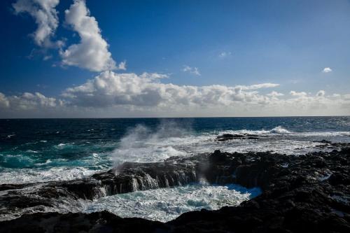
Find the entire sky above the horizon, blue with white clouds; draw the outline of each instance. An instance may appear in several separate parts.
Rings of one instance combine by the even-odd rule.
[[[0,118],[350,115],[350,1],[1,1]]]

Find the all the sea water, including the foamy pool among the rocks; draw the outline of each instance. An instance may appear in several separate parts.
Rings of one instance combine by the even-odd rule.
[[[217,141],[221,134],[258,139]],[[297,156],[328,150],[321,147],[322,140],[349,143],[350,117],[3,119],[0,184],[72,180],[123,162],[160,162],[217,149]],[[237,205],[259,194],[258,188],[203,181],[103,197],[82,202],[80,209],[55,211],[106,209],[122,217],[167,221],[186,211]]]

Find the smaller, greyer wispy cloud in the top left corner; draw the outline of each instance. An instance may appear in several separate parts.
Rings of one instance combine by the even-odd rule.
[[[37,45],[44,48],[62,46],[62,41],[51,41],[58,27],[57,10],[59,0],[18,0],[13,3],[15,13],[29,13],[38,28],[32,34]]]

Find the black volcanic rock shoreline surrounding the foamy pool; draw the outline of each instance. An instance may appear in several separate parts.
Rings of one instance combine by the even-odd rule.
[[[300,156],[216,150],[165,162],[128,162],[76,181],[0,185],[0,216],[22,215],[0,222],[0,232],[350,232],[350,148],[341,147]],[[106,211],[26,214],[200,178],[260,187],[262,195],[237,207],[183,213],[168,223],[120,218]]]

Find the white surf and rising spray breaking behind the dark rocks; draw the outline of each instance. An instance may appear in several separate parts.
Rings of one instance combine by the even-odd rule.
[[[309,152],[327,150],[319,148],[322,139],[346,137],[349,132],[291,132],[281,126],[265,130],[224,130],[193,134],[179,125],[165,130],[160,127],[155,132],[139,125],[131,129],[113,152],[116,164],[122,162],[160,162],[172,156],[190,156],[197,153],[212,153],[214,150],[245,153],[249,151],[272,151],[287,155],[302,155]],[[169,134],[166,134],[169,132]],[[258,136],[258,139],[233,139],[219,142],[216,136],[239,134]],[[349,137],[350,141],[350,137]]]

